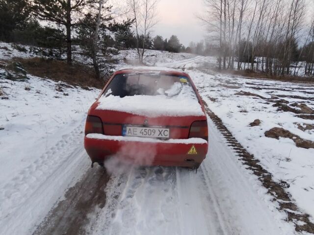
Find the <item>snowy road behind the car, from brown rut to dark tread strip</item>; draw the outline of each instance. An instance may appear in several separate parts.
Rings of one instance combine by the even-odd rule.
[[[88,170],[65,194],[67,203],[61,201],[35,234],[293,234],[293,226],[210,120],[209,133],[209,155],[197,174],[175,167],[120,166],[104,186],[98,182],[104,171]],[[82,197],[86,192],[93,197]]]

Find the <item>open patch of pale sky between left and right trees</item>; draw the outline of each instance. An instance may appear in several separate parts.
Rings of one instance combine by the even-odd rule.
[[[205,31],[195,17],[202,13],[203,0],[160,0],[158,3],[158,24],[153,35],[170,38],[175,34],[184,46],[191,41],[204,39]]]

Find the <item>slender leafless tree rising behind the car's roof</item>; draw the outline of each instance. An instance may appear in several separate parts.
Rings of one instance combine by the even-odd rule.
[[[134,19],[136,49],[140,63],[143,63],[145,42],[152,28],[157,24],[158,0],[127,0]],[[142,42],[141,40],[142,39]]]

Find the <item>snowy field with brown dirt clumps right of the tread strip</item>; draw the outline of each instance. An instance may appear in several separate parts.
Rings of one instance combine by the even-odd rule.
[[[197,85],[202,87],[199,89],[200,93],[210,109],[223,120],[235,138],[261,161],[262,166],[271,172],[278,182],[287,182],[287,190],[297,204],[307,213],[314,215],[314,148],[297,147],[293,140],[288,138],[275,140],[264,135],[271,128],[279,127],[302,139],[314,141],[314,129],[298,128],[299,125],[313,125],[314,120],[299,118],[292,112],[278,112],[277,107],[273,107],[275,103],[268,101],[276,100],[275,97],[281,97],[280,95],[287,95],[283,99],[287,100],[288,104],[306,103],[314,109],[314,100],[308,99],[314,97],[314,87],[219,74],[207,75],[205,78],[204,74],[192,74]],[[256,90],[257,87],[262,90]],[[243,92],[253,95],[241,95]],[[261,125],[250,126],[255,119],[261,120]]]

